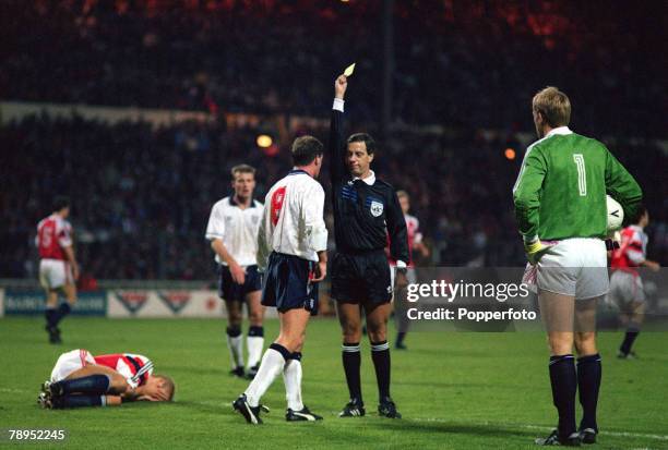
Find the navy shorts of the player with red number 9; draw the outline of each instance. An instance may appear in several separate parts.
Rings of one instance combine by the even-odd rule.
[[[315,263],[273,252],[262,280],[262,304],[281,313],[305,308],[318,314],[318,283],[312,283]]]

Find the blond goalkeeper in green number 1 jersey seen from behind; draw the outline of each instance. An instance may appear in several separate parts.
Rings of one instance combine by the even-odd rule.
[[[601,379],[596,303],[609,283],[606,193],[621,204],[624,217],[635,217],[642,192],[605,145],[569,130],[571,104],[565,94],[554,87],[540,90],[533,99],[533,115],[539,139],[526,150],[513,198],[527,258],[537,267],[552,399],[559,413],[558,428],[536,442],[593,443]],[[577,389],[583,408],[580,427]]]

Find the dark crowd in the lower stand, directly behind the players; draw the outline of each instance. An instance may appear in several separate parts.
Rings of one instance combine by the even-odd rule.
[[[323,141],[324,129],[312,131]],[[257,194],[290,168],[287,147],[271,156],[253,127],[189,122],[153,129],[83,119],[27,118],[0,129],[2,277],[34,277],[35,226],[57,193],[73,200],[72,222],[84,273],[98,279],[213,279],[204,229],[210,208],[230,192],[229,169],[259,169]],[[668,156],[649,142],[609,142],[645,188],[653,223],[649,254],[668,258],[668,192],[660,171]],[[509,136],[481,132],[395,133],[375,170],[407,190],[434,264],[514,266],[524,262],[511,187],[522,151],[506,159]],[[637,156],[642,155],[642,158]],[[325,161],[326,165],[326,161]],[[326,183],[325,183],[326,184]]]

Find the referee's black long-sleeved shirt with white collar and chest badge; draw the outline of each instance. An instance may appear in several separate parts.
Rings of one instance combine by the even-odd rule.
[[[392,258],[407,263],[408,233],[396,193],[378,179],[371,185],[353,179],[345,159],[343,112],[337,109],[332,109],[329,146],[336,250],[353,254],[383,250],[390,235]]]

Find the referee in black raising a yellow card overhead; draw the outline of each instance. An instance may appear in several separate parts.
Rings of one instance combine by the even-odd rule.
[[[371,358],[378,381],[380,415],[401,418],[390,397],[387,318],[392,284],[384,247],[397,262],[397,283],[406,283],[408,243],[406,222],[394,188],[370,170],[375,143],[366,133],[343,142],[344,95],[347,77],[334,82],[330,129],[332,202],[336,251],[332,259],[332,297],[343,331],[343,366],[350,401],[339,417],[365,415],[360,384],[361,308],[367,317]]]

